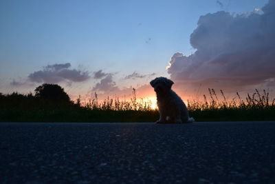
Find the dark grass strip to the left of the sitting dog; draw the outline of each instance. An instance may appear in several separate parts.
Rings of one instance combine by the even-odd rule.
[[[135,90],[130,101],[107,98],[95,94],[88,103],[56,102],[40,99],[32,94],[0,94],[0,122],[153,122],[158,112],[151,101],[137,99]]]

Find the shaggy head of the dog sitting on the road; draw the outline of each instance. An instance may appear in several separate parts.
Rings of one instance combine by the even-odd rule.
[[[150,82],[151,86],[154,88],[155,92],[162,93],[167,92],[171,89],[173,81],[165,77],[157,77]]]

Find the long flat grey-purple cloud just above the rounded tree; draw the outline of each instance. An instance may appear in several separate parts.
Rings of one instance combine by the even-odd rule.
[[[36,83],[82,82],[90,78],[88,72],[71,68],[70,63],[47,65],[43,70],[33,72],[28,79]]]

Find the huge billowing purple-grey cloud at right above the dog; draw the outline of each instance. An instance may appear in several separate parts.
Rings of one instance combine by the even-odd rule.
[[[193,89],[200,84],[232,90],[274,84],[275,0],[262,10],[262,14],[221,11],[201,16],[190,35],[196,52],[173,54],[167,68],[171,79]]]

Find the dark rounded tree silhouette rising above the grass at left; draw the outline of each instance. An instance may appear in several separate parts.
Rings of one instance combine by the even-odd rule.
[[[69,95],[57,84],[43,83],[43,85],[39,85],[34,92],[35,96],[41,99],[70,102]]]

